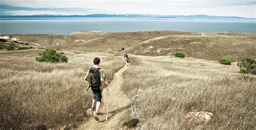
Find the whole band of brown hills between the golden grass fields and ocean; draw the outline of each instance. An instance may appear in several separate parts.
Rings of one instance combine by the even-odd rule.
[[[116,53],[125,51],[143,56],[173,56],[180,51],[186,57],[219,60],[221,57],[237,61],[241,57],[256,58],[254,33],[233,32],[73,32],[70,35],[9,35],[30,45],[46,48],[90,52]],[[1,44],[1,43],[0,43]]]

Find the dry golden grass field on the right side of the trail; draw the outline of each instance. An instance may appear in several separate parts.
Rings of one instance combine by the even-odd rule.
[[[122,90],[137,108],[138,128],[255,129],[256,76],[239,74],[234,63],[135,55],[131,59]],[[212,112],[214,118],[207,124],[187,124],[184,115],[192,111]]]

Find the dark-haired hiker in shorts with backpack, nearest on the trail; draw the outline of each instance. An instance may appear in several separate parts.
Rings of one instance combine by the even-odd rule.
[[[107,81],[104,80],[104,73],[103,70],[99,68],[100,59],[96,57],[93,59],[94,66],[89,69],[86,73],[84,79],[89,82],[89,87],[91,87],[93,93],[92,99],[92,107],[90,111],[93,113],[93,117],[99,121],[99,107],[100,102],[102,102],[102,89],[104,85],[107,85]],[[96,108],[95,108],[95,102]]]

